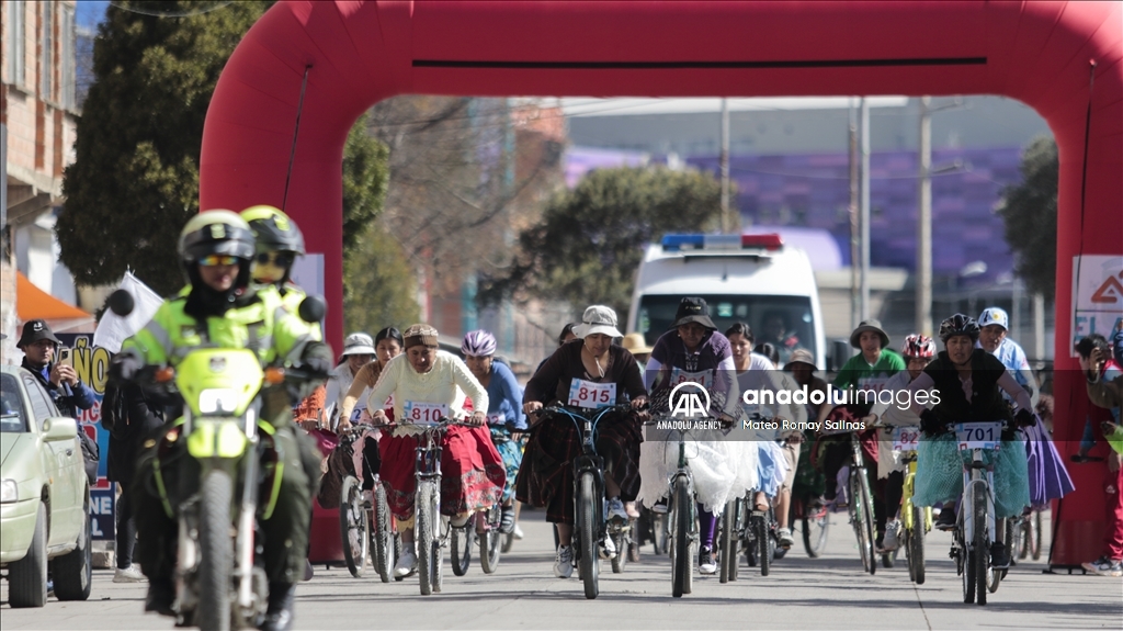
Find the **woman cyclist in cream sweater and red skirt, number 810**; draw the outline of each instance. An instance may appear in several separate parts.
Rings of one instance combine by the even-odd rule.
[[[407,410],[424,410],[471,426],[451,426],[440,438],[444,449],[440,513],[451,518],[453,525],[463,527],[472,513],[495,505],[506,482],[503,460],[483,427],[486,422],[484,410],[489,406],[487,391],[459,357],[438,350],[437,329],[413,324],[405,329],[403,338],[405,354],[386,364],[367,397],[367,410],[375,410],[372,414],[375,424],[387,422],[382,405],[390,396],[394,397],[394,418],[399,419],[390,436],[378,441],[386,501],[398,518],[404,548],[394,566],[395,576],[409,576],[417,567],[412,527],[418,432],[410,427],[413,414],[405,413]],[[465,395],[477,406],[471,415],[464,410]]]

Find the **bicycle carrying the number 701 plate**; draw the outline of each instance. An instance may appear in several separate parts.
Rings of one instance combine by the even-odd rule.
[[[959,451],[970,452],[964,461],[964,494],[956,523],[951,558],[956,573],[962,577],[964,602],[986,604],[987,593],[998,591],[1002,571],[990,566],[990,543],[996,538],[994,507],[994,466],[984,461],[983,454],[996,454],[1001,448],[1003,423],[956,423]]]

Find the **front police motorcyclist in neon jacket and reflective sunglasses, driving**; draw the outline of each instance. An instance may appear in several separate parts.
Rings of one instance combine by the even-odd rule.
[[[110,368],[112,379],[134,379],[144,366],[175,366],[186,351],[206,345],[249,348],[263,365],[301,363],[310,373],[327,374],[331,351],[319,341],[318,331],[283,307],[275,287],[250,287],[254,236],[245,220],[227,210],[195,216],[180,235],[179,254],[189,289],[164,301],[152,321],[125,340]],[[262,556],[270,582],[262,629],[287,629],[294,586],[304,569],[312,481],[301,466],[298,441],[307,438],[293,431],[289,391],[285,386],[266,387],[261,397],[261,418],[274,426],[276,451],[284,455],[287,465],[279,467],[283,474],[273,514],[261,522]],[[145,445],[148,449],[138,464],[131,492],[139,534],[136,557],[149,579],[145,610],[173,615],[177,522],[170,507],[175,502],[155,491],[152,477],[154,460],[170,460],[182,449],[183,441],[176,443],[174,423],[163,431],[161,440]],[[183,470],[190,458],[179,458],[177,463],[180,475],[190,482],[190,474]],[[165,478],[170,473],[162,469]]]

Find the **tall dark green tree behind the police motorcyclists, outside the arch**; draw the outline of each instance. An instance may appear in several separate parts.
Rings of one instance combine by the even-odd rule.
[[[115,283],[129,267],[162,294],[183,284],[175,246],[199,211],[207,108],[230,53],[270,4],[234,2],[181,18],[107,12],[56,228],[60,258],[80,284]],[[144,8],[198,12],[200,4]]]

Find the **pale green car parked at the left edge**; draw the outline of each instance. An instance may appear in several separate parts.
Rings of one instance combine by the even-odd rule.
[[[0,567],[8,602],[42,607],[90,597],[90,483],[77,421],[61,417],[31,373],[0,372]]]

